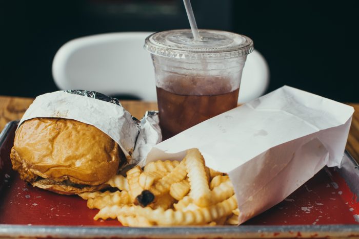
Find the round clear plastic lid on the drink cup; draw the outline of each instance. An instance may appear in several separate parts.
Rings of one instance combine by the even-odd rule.
[[[156,32],[146,38],[144,48],[178,59],[235,58],[253,51],[253,41],[247,36],[204,29],[199,33],[202,41],[195,41],[190,29]]]

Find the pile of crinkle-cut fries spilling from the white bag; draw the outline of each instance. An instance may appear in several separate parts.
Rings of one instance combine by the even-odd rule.
[[[127,178],[108,184],[117,191],[85,192],[79,196],[98,219],[117,219],[130,227],[154,225],[237,225],[240,211],[228,176],[205,166],[198,149],[182,161],[154,161],[143,171],[135,166]]]

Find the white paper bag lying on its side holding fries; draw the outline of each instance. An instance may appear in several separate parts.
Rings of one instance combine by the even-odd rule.
[[[233,183],[240,223],[288,197],[325,165],[340,166],[353,107],[289,86],[155,145],[146,162],[198,148]]]

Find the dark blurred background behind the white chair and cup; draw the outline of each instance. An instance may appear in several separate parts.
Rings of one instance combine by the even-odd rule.
[[[192,0],[199,28],[248,35],[270,67],[268,91],[287,84],[359,102],[359,1]],[[182,0],[0,0],[0,95],[56,91],[52,59],[91,34],[189,28]]]

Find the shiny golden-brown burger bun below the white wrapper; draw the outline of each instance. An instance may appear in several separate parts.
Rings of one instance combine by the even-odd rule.
[[[92,125],[34,118],[17,129],[10,158],[23,180],[70,194],[68,187],[73,193],[88,191],[88,186],[101,188],[118,170],[118,150],[114,140]]]

